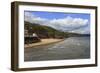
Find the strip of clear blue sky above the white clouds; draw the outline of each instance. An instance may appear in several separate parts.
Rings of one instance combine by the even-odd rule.
[[[27,11],[26,11],[27,12]],[[62,13],[62,12],[43,12],[43,11],[28,11],[37,17],[46,18],[46,19],[61,19],[66,16],[71,16],[73,18],[83,18],[90,20],[90,14],[83,13]]]

